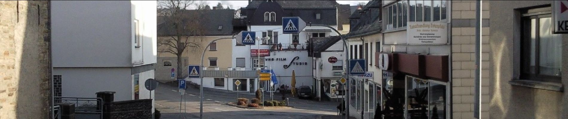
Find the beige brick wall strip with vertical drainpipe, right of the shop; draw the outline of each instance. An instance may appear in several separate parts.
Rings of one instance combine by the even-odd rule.
[[[482,3],[482,114],[488,118],[489,2]],[[475,1],[452,1],[452,116],[474,118]]]

